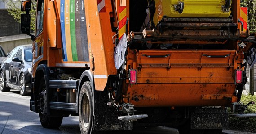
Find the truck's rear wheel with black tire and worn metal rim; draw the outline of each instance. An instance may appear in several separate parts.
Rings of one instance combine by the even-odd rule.
[[[81,134],[93,134],[93,96],[91,83],[82,85],[79,96],[79,126]]]

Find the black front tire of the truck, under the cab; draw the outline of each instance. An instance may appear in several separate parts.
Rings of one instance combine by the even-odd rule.
[[[46,92],[46,86],[45,86],[45,80],[44,78],[41,78],[40,84],[39,84],[39,118],[41,125],[44,128],[58,128],[62,125],[62,119],[63,117],[50,117],[47,109],[49,109],[49,106],[47,106],[47,92]]]

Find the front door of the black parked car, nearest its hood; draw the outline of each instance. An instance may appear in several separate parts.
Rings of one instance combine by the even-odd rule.
[[[12,62],[12,72],[11,73],[11,80],[12,80],[12,84],[15,84],[15,85],[18,85],[18,78],[19,78],[19,71],[21,70],[21,67],[22,67],[22,48],[20,48],[17,52],[17,54],[13,57],[13,58],[17,58],[20,60],[20,61],[15,61],[13,60]]]

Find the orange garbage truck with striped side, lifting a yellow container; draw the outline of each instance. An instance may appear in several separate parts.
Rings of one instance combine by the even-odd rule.
[[[33,40],[30,110],[82,134],[172,126],[218,134],[240,103],[256,35],[239,0],[24,0]],[[252,104],[253,102],[251,102]]]

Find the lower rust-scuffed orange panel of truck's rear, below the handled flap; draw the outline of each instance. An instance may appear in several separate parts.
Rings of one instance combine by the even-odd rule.
[[[145,79],[146,80],[146,79]],[[151,79],[147,79],[149,82]],[[176,79],[180,80],[179,78]],[[224,80],[224,79],[222,79]],[[154,90],[152,90],[154,89]],[[130,85],[125,93],[125,103],[132,103],[136,107],[160,106],[229,106],[230,101],[202,100],[203,94],[225,94],[234,96],[234,83],[145,83]],[[136,101],[132,98],[146,95],[146,98]],[[154,95],[154,96],[153,96]],[[157,97],[156,97],[157,96]]]

